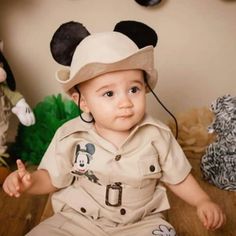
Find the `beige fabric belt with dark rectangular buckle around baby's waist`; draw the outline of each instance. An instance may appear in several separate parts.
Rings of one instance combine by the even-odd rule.
[[[152,196],[156,189],[156,181],[142,188],[130,187],[115,182],[109,185],[98,185],[85,178],[79,179],[79,185],[95,199],[104,199],[107,206],[118,207],[122,203],[142,201]]]

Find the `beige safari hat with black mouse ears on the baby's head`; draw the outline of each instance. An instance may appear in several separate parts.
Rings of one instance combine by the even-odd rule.
[[[156,32],[142,22],[121,21],[112,32],[93,34],[79,22],[64,23],[54,33],[50,48],[58,63],[70,67],[57,71],[56,78],[70,94],[74,86],[104,73],[138,69],[146,72],[154,88],[157,40]]]

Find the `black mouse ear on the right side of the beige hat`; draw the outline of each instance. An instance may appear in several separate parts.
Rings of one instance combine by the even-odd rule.
[[[114,31],[120,32],[132,39],[139,48],[157,44],[155,30],[138,21],[121,21],[116,24]]]

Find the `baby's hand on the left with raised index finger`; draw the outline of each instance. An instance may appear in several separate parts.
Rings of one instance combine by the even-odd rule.
[[[3,183],[3,190],[11,197],[20,197],[31,185],[31,174],[21,160],[16,161],[17,170],[12,172]]]

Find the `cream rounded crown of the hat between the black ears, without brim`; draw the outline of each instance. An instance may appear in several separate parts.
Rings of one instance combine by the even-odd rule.
[[[94,33],[84,38],[73,55],[70,78],[90,63],[113,63],[137,52],[139,48],[119,32]]]

